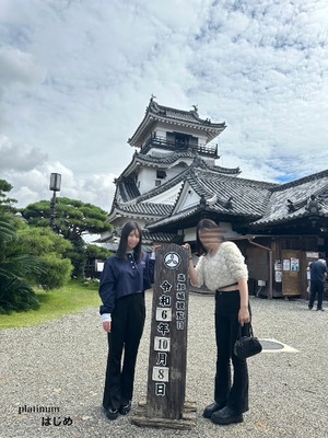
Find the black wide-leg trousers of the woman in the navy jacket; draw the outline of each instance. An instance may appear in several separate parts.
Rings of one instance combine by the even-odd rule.
[[[145,319],[144,292],[116,301],[108,333],[108,358],[103,406],[118,410],[132,400],[134,369]],[[121,364],[124,351],[124,360]]]

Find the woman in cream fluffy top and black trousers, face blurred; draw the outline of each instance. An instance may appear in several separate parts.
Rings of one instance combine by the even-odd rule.
[[[184,247],[190,251],[189,244]],[[200,257],[196,267],[191,253],[189,256],[191,284],[215,291],[214,402],[204,408],[203,416],[221,425],[242,423],[243,413],[248,411],[248,370],[246,360],[238,359],[233,347],[239,326],[243,331],[250,322],[247,266],[237,245],[225,242],[220,227],[210,219],[197,226],[197,252]]]

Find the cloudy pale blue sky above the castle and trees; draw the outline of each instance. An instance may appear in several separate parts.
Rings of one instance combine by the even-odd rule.
[[[0,0],[0,178],[110,210],[151,95],[226,129],[218,165],[328,169],[327,0]]]

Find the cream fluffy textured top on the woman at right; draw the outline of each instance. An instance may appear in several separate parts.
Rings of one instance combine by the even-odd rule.
[[[238,246],[233,242],[222,242],[216,253],[201,255],[196,266],[197,287],[206,285],[210,290],[248,279],[245,260]]]

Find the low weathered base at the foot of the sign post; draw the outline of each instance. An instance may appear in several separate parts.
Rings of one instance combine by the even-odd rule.
[[[195,401],[186,400],[184,403],[183,417],[180,419],[147,417],[145,416],[147,401],[141,400],[138,407],[131,417],[131,423],[141,427],[156,427],[167,429],[190,430],[196,426],[197,406]]]

